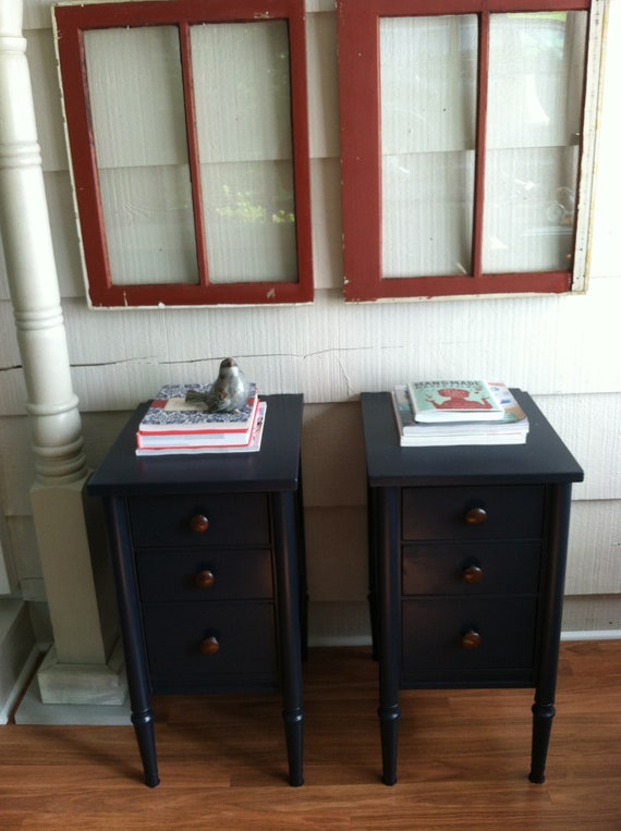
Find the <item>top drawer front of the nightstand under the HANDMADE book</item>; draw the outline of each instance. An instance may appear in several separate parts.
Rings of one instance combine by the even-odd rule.
[[[403,538],[538,539],[544,499],[543,485],[404,488]]]

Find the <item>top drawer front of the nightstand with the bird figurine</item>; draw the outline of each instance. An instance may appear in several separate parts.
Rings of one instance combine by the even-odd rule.
[[[265,493],[132,497],[129,512],[136,546],[269,545]]]

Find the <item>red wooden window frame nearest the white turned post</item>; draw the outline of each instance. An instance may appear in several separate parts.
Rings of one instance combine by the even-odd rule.
[[[307,303],[313,300],[310,237],[310,181],[306,89],[304,0],[145,0],[85,5],[58,5],[53,10],[60,74],[72,158],[77,211],[93,306],[174,306],[218,304]],[[208,252],[203,230],[197,139],[190,56],[190,26],[217,22],[285,21],[289,30],[291,74],[291,130],[293,146],[297,280],[295,282],[209,282]],[[199,281],[197,284],[114,285],[108,260],[97,159],[89,117],[84,32],[119,26],[172,25],[179,28],[194,227]]]

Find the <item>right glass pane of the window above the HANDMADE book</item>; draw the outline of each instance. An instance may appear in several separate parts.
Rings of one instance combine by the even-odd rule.
[[[586,12],[490,17],[483,270],[571,269]]]

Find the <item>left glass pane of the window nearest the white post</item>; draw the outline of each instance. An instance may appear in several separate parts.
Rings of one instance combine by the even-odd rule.
[[[86,30],[84,45],[112,283],[196,283],[178,29]]]

